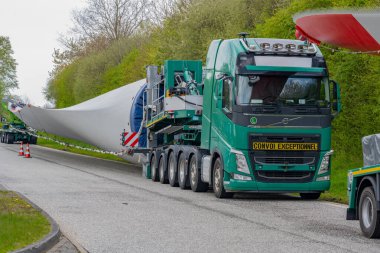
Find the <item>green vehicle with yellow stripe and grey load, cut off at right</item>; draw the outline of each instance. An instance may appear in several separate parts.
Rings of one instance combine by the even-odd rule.
[[[362,144],[364,167],[348,172],[347,220],[359,220],[366,237],[380,238],[380,135]]]

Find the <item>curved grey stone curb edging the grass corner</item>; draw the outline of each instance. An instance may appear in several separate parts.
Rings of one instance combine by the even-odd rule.
[[[51,232],[40,241],[33,243],[29,246],[26,246],[25,248],[12,251],[11,253],[41,253],[41,252],[48,251],[59,242],[59,238],[61,236],[61,231],[59,230],[59,226],[57,222],[55,222],[55,220],[52,217],[50,217],[49,214],[47,214],[39,206],[34,204],[32,201],[30,201],[23,194],[19,192],[15,192],[15,193],[18,194],[21,198],[23,198],[26,202],[28,202],[34,209],[40,211],[42,215],[44,215],[49,220],[50,226],[51,226]]]

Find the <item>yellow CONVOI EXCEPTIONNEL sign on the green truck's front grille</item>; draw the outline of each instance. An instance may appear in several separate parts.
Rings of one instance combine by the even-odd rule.
[[[254,142],[253,150],[318,150],[318,143]]]

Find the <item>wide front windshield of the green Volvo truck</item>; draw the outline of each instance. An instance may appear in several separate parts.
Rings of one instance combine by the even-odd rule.
[[[327,78],[296,76],[246,76],[236,78],[236,104],[295,104],[327,106]]]

